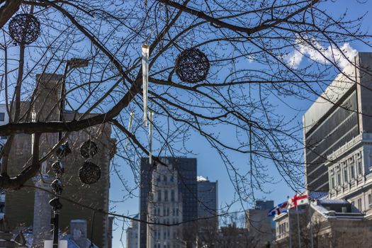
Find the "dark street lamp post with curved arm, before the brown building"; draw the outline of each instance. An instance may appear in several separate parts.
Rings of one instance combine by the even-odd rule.
[[[64,67],[64,73],[62,76],[62,86],[61,86],[61,94],[60,94],[60,115],[58,120],[60,122],[63,121],[63,111],[64,111],[64,91],[65,91],[65,84],[66,84],[66,77],[67,72],[70,69],[79,68],[79,67],[87,67],[89,64],[89,60],[86,59],[71,59],[67,60],[66,65]],[[58,142],[62,140],[62,131],[58,132]],[[55,171],[55,180],[52,182],[52,190],[55,192],[55,198],[50,200],[49,204],[52,206],[53,210],[53,248],[58,248],[58,230],[59,230],[59,219],[60,219],[60,210],[62,208],[62,204],[60,203],[60,195],[62,194],[62,181],[60,180],[64,168],[62,165],[62,157],[66,156],[67,154],[71,153],[69,149],[69,145],[66,142],[64,145],[61,145],[57,149],[57,162],[52,164],[52,169]]]

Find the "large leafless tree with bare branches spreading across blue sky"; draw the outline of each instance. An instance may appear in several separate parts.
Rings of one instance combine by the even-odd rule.
[[[342,72],[340,60],[353,63],[342,44],[358,41],[369,46],[370,38],[360,18],[331,16],[325,4],[337,3],[320,0],[0,4],[0,95],[10,116],[9,124],[0,126],[0,136],[8,136],[1,150],[0,187],[9,189],[24,186],[59,147],[55,144],[43,156],[40,135],[63,132],[65,140],[70,132],[104,123],[114,126],[116,155],[129,164],[138,183],[135,158],[149,154],[147,128],[142,125],[142,43],[150,45],[154,161],[197,152],[189,142],[197,134],[220,155],[242,205],[252,203],[254,191],[264,191],[273,181],[272,170],[288,185],[301,188],[302,127],[283,116],[281,106],[287,99],[320,96],[334,72]],[[17,13],[33,13],[40,20],[41,35],[35,43],[14,45],[6,23]],[[190,47],[203,51],[210,61],[208,77],[198,83],[181,81],[174,69],[176,57]],[[308,57],[309,64],[297,67],[296,55]],[[35,74],[62,74],[74,57],[89,60],[89,67],[67,69],[64,98],[75,118],[32,121],[31,110],[42,100],[35,94]],[[55,103],[54,110],[59,108]],[[135,118],[128,130],[131,111]],[[21,134],[35,135],[33,155],[22,170],[10,175],[9,152],[14,137]],[[238,155],[247,157],[244,169],[233,159]],[[128,174],[120,163],[113,164],[113,171]],[[130,196],[134,188],[122,182]]]

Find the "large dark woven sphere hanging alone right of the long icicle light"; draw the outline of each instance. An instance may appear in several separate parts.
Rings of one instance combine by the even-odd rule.
[[[186,49],[176,58],[175,71],[179,79],[189,83],[205,80],[209,72],[209,60],[201,50]]]

